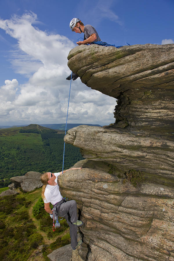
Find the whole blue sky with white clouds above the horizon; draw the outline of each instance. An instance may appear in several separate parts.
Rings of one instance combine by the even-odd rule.
[[[1,0],[0,125],[66,121],[66,57],[83,37],[70,30],[73,17],[92,24],[110,44],[171,44],[173,13],[173,0]],[[77,79],[69,123],[112,123],[115,104]]]

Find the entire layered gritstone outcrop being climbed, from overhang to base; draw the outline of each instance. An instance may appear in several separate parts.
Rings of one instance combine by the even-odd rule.
[[[58,177],[84,221],[72,260],[174,261],[174,45],[79,46],[68,59],[84,84],[118,99],[114,124],[64,138],[86,158]]]

